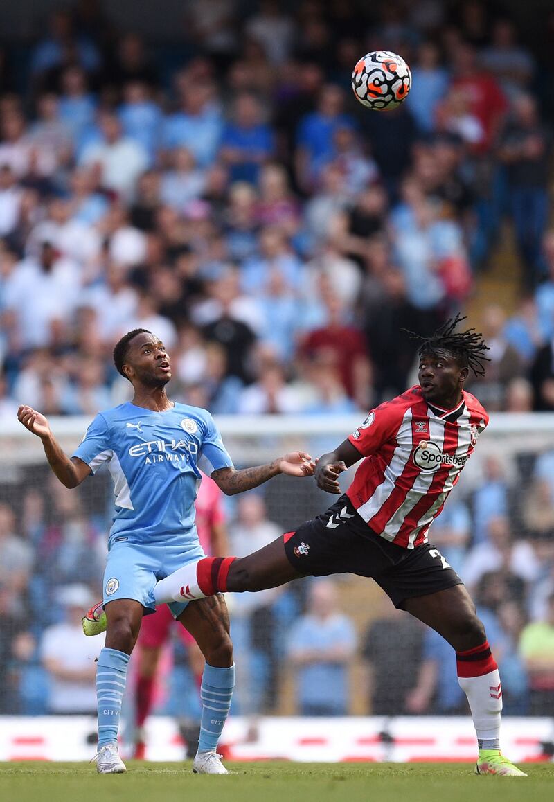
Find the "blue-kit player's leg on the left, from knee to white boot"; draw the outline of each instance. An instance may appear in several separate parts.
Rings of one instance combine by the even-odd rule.
[[[125,764],[118,754],[119,717],[127,682],[127,666],[140,632],[144,607],[133,599],[115,599],[106,604],[106,646],[99,654],[96,670],[98,701],[99,774],[121,774]]]

